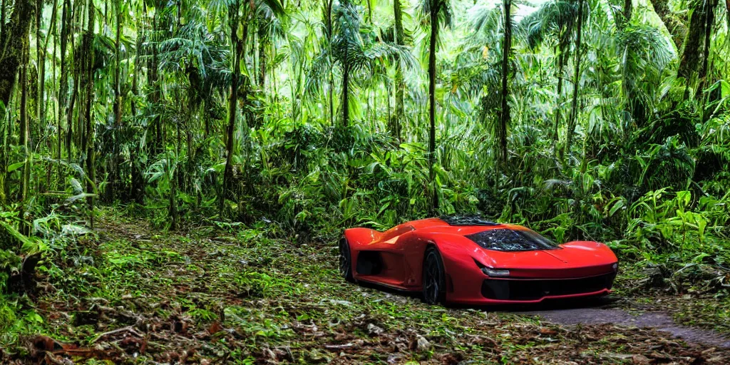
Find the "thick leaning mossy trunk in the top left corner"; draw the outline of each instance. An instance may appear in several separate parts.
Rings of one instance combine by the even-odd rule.
[[[3,45],[0,53],[0,101],[7,106],[12,95],[12,88],[15,86],[15,75],[18,74],[21,59],[23,58],[23,45],[28,39],[31,30],[31,20],[36,13],[34,0],[17,0],[15,7],[10,14],[9,23],[2,29],[0,45]],[[7,30],[6,30],[7,28]],[[0,115],[4,115],[4,108]]]

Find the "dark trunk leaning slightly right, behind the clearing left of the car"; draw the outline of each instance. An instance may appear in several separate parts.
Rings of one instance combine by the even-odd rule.
[[[245,50],[245,40],[238,37],[239,27],[239,3],[235,1],[234,4],[228,7],[228,21],[231,27],[231,45],[233,45],[233,72],[231,74],[231,94],[228,97],[228,126],[226,128],[226,167],[223,169],[223,187],[220,192],[220,215],[224,213],[224,207],[226,204],[226,198],[228,191],[230,191],[231,179],[233,178],[233,165],[231,161],[233,159],[234,151],[234,127],[236,125],[236,117],[238,115],[238,88],[239,88],[239,77],[241,74],[241,56],[243,50]],[[243,37],[247,35],[247,24],[243,28]]]

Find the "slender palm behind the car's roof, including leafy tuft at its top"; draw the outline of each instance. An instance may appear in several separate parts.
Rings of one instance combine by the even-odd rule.
[[[421,12],[429,17],[431,38],[429,39],[429,179],[435,183],[434,154],[436,153],[436,45],[439,41],[439,28],[451,26],[451,4],[449,0],[423,0]],[[434,186],[431,210],[439,208],[437,190]]]

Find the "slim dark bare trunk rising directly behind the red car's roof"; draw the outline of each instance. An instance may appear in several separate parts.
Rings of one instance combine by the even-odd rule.
[[[431,4],[435,1],[431,0]],[[434,171],[436,155],[436,42],[439,37],[439,18],[437,9],[431,8],[431,39],[429,39],[429,182],[433,188],[431,212],[439,209],[439,195],[436,188]]]

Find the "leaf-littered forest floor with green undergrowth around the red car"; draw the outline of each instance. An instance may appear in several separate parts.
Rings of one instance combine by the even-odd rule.
[[[730,364],[726,299],[619,288],[591,307],[432,307],[346,283],[331,242],[228,231],[158,234],[104,211],[96,237],[42,275],[42,333],[0,362]]]

